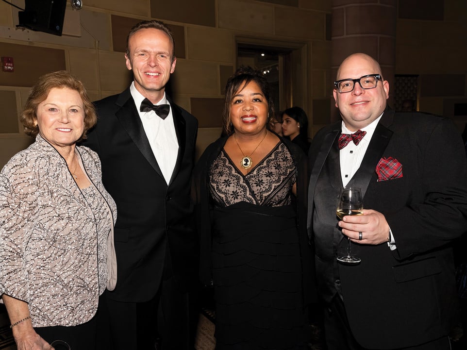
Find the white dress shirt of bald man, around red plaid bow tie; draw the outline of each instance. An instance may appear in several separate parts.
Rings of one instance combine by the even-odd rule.
[[[383,113],[365,128],[360,129],[362,131],[366,131],[367,133],[360,141],[358,146],[355,145],[353,142],[349,142],[349,144],[346,147],[339,151],[340,172],[342,177],[342,185],[344,187],[349,183],[350,179],[353,177],[353,175],[357,172],[358,168],[362,164],[363,157],[367,152],[367,148],[370,143],[371,137],[375,132],[376,125],[378,125],[378,122],[380,121],[382,116]],[[342,121],[341,130],[342,133],[354,133],[351,132],[345,126],[344,121]]]

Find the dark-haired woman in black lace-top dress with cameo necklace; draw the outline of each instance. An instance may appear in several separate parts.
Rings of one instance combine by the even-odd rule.
[[[239,68],[225,91],[226,136],[204,151],[193,182],[216,349],[306,349],[304,305],[314,294],[306,160],[267,129],[274,111],[260,72]]]

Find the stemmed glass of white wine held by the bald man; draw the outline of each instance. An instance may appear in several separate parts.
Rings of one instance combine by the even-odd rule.
[[[342,220],[346,215],[363,215],[362,191],[358,187],[341,188],[336,209],[337,217]],[[347,254],[338,255],[337,261],[358,264],[361,260],[350,254],[350,238],[347,237]]]

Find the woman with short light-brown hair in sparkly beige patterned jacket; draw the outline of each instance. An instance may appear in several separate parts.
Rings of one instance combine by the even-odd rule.
[[[18,350],[94,349],[99,296],[116,280],[117,211],[97,154],[76,142],[96,123],[67,71],[39,78],[21,122],[35,137],[0,174],[0,294]]]

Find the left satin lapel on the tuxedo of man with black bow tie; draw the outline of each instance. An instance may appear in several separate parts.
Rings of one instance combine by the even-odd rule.
[[[162,171],[157,164],[156,157],[154,157],[154,153],[152,152],[148,137],[144,132],[143,123],[141,122],[141,118],[139,117],[139,114],[134,105],[134,100],[131,96],[130,88],[120,94],[117,99],[117,104],[121,106],[121,108],[116,113],[116,116],[121,125],[130,135],[134,144],[140,150],[141,154],[143,154],[143,156],[146,158],[151,167],[153,167],[154,170],[162,178],[164,178]]]

